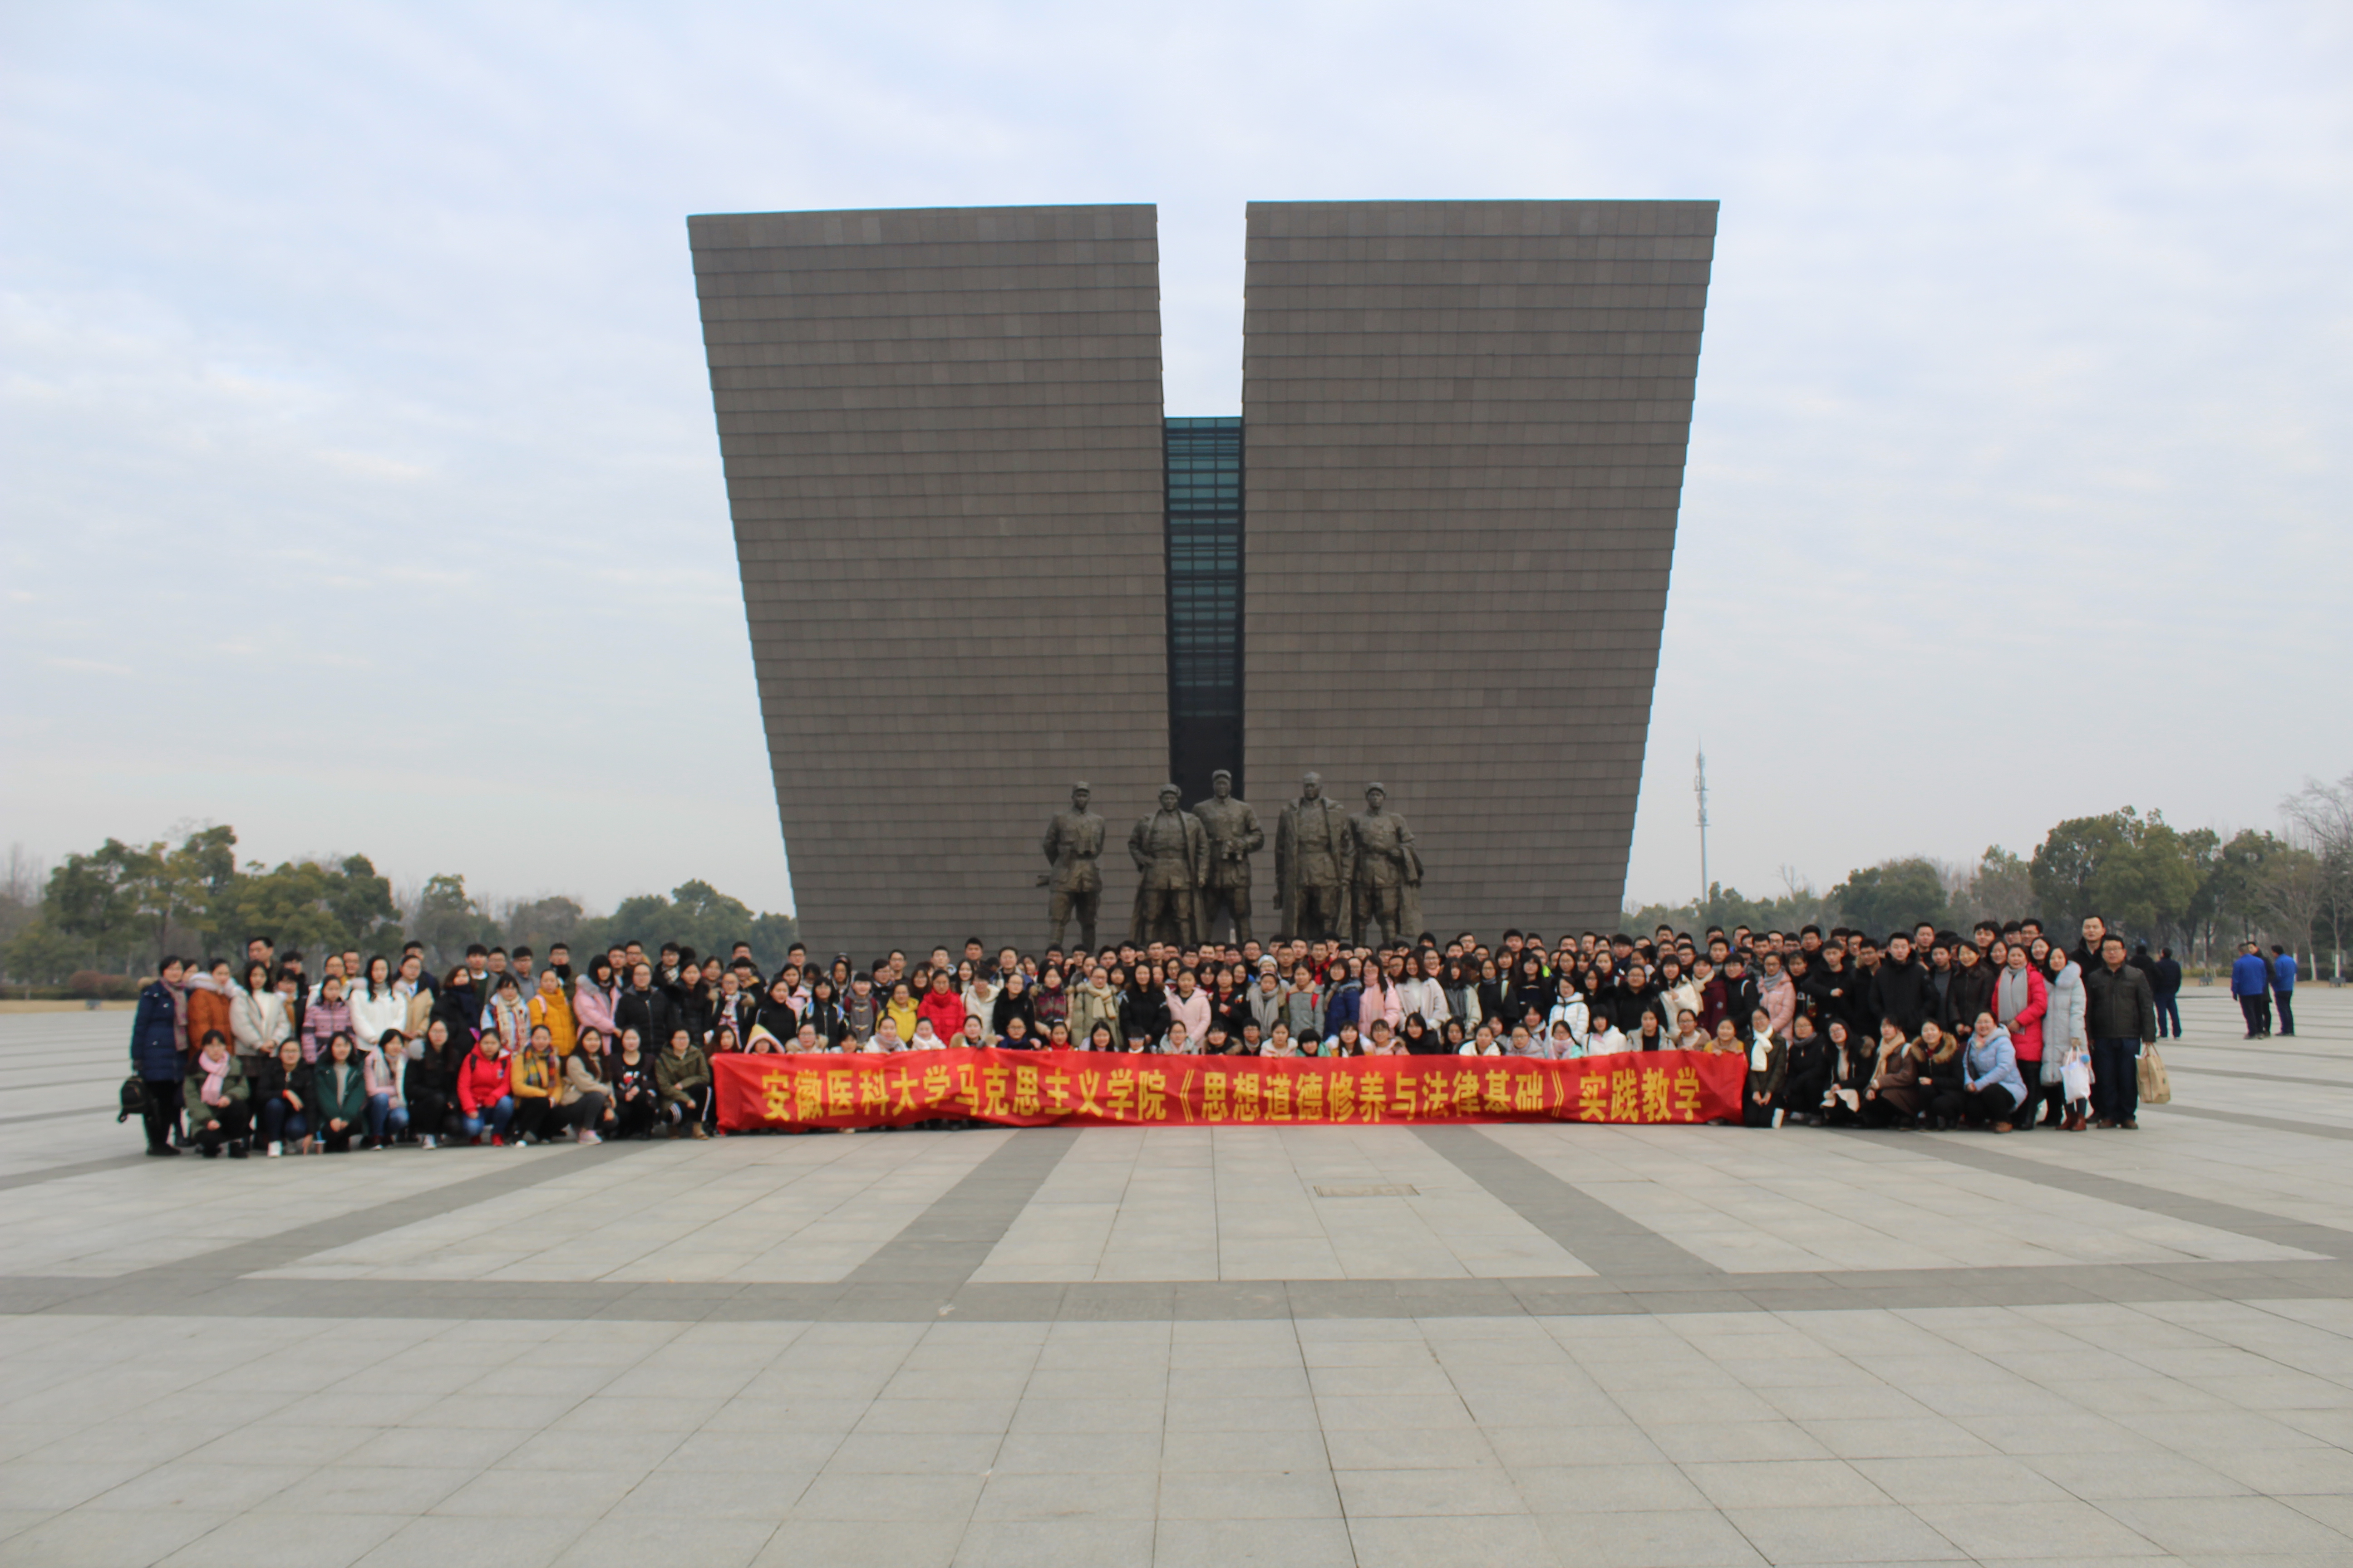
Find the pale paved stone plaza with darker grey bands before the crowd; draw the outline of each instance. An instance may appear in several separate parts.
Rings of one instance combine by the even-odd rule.
[[[2184,1013],[2139,1133],[242,1164],[7,1016],[0,1563],[2348,1563],[2353,997]]]

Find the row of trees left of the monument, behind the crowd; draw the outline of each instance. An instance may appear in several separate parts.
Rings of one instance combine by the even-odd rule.
[[[445,969],[468,943],[536,952],[569,943],[586,952],[616,938],[678,940],[699,952],[744,940],[772,971],[800,936],[791,914],[755,914],[699,879],[595,914],[565,896],[482,898],[454,872],[402,896],[367,856],[266,865],[240,863],[235,846],[238,832],[226,825],[198,827],[176,844],[106,839],[47,872],[21,849],[9,851],[0,875],[0,983],[118,994],[129,978],[153,973],[165,952],[235,957],[256,933],[280,952],[306,954],[313,976],[327,952],[398,954],[407,940],[424,943],[426,961]]]

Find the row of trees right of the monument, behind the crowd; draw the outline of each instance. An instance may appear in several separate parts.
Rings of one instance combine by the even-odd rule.
[[[1828,893],[1784,870],[1784,891],[1772,898],[1715,884],[1706,900],[1645,905],[1628,919],[1642,931],[1842,924],[1885,933],[1922,919],[1965,931],[1979,919],[2026,914],[2073,931],[2085,914],[2099,914],[2188,964],[2226,961],[2238,943],[2261,940],[2294,950],[2306,976],[2339,976],[2353,933],[2353,773],[2334,785],[2308,783],[2280,802],[2280,816],[2285,835],[2242,827],[2224,837],[2174,827],[2162,811],[2120,806],[2054,825],[2031,858],[2000,844],[1972,865],[1901,856],[1847,872]]]

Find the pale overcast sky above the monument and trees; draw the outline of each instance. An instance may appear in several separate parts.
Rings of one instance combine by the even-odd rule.
[[[1628,896],[2353,769],[2353,12],[16,5],[0,842],[786,907],[685,214],[1718,197]],[[1052,802],[1040,802],[1040,811]],[[1409,802],[1405,804],[1409,811]]]

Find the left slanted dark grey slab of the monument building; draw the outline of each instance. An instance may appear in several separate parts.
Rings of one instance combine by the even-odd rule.
[[[1155,212],[687,235],[802,931],[1035,945],[1071,783],[1118,818],[1167,773]]]

